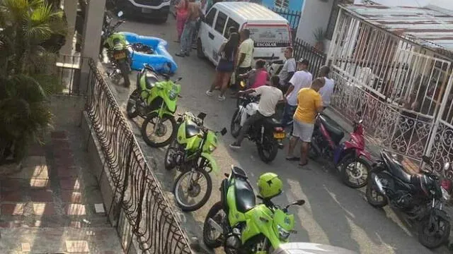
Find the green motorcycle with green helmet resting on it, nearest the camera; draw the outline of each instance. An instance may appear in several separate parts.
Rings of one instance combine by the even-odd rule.
[[[282,181],[277,174],[265,173],[258,179],[255,193],[246,172],[231,167],[220,186],[221,200],[207,213],[203,226],[203,241],[210,248],[224,246],[225,253],[272,253],[280,244],[287,243],[294,231],[294,215],[288,213],[292,205],[304,205],[297,200],[281,208],[271,199],[282,193]]]

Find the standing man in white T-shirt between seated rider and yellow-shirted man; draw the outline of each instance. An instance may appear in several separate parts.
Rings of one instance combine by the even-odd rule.
[[[311,86],[311,80],[313,79],[313,77],[311,73],[307,71],[308,67],[309,61],[300,59],[297,62],[297,68],[299,71],[294,73],[291,80],[289,80],[289,87],[287,92],[285,93],[287,103],[282,117],[283,126],[287,126],[288,123],[292,121],[292,116],[294,115],[294,111],[297,108],[297,94],[299,93],[299,90]]]

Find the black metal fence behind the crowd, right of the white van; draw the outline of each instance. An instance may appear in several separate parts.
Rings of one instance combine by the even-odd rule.
[[[326,63],[327,55],[319,52],[313,46],[296,38],[293,42],[294,59],[306,59],[309,61],[309,71],[313,77],[316,77],[319,68]]]

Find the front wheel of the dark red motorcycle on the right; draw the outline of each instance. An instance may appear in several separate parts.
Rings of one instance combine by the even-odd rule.
[[[365,159],[348,157],[341,165],[341,179],[346,186],[362,188],[367,185],[371,165]]]

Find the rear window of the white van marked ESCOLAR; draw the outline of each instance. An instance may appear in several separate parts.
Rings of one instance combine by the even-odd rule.
[[[247,25],[255,47],[289,47],[291,45],[287,25]]]

